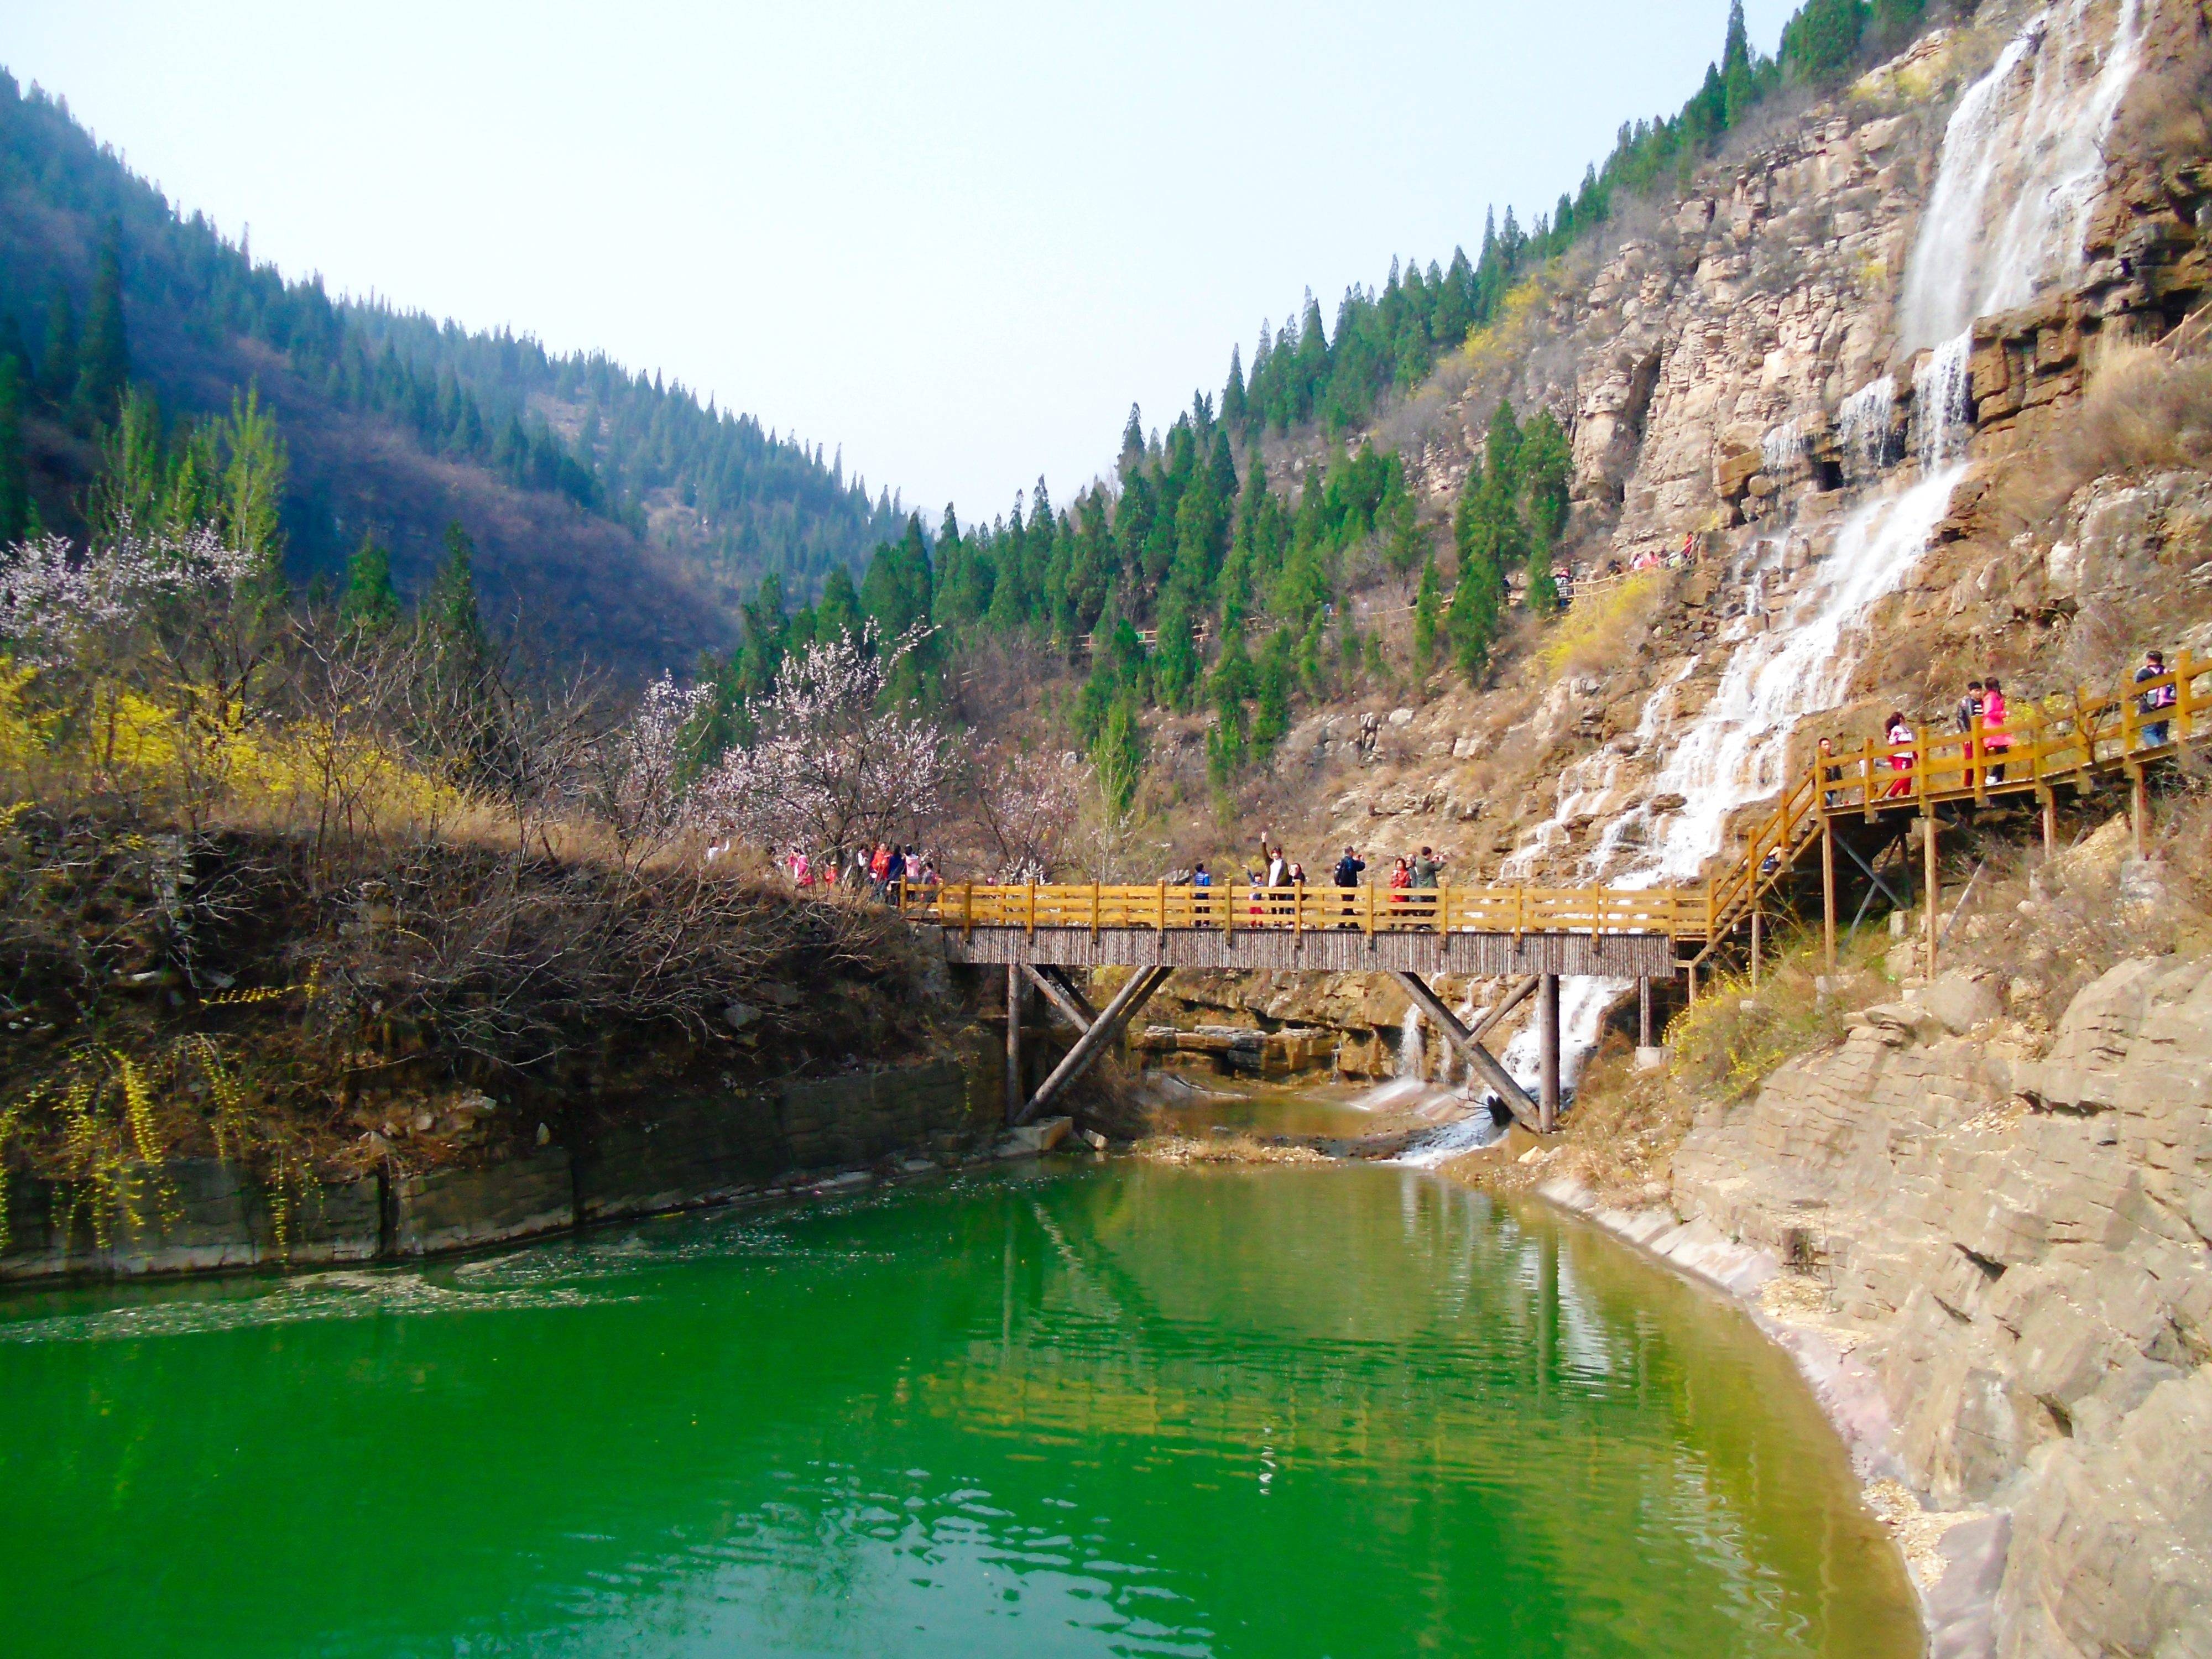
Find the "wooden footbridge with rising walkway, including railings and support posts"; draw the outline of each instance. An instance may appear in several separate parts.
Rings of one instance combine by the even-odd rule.
[[[2212,692],[2197,681],[2212,664],[2185,653],[2172,670],[2115,690],[2022,699],[2002,726],[1909,743],[1863,743],[1809,761],[1754,821],[1745,847],[1699,887],[1190,887],[1106,883],[953,883],[909,887],[898,905],[909,922],[938,929],[951,962],[1006,969],[1006,1102],[1029,1121],[1128,1026],[1175,969],[1290,969],[1389,973],[1444,1040],[1524,1124],[1551,1133],[1559,1113],[1559,975],[1637,980],[1639,1033],[1650,1046],[1652,980],[1697,973],[1717,949],[1750,931],[1756,969],[1763,920],[1776,887],[1796,887],[1814,858],[1827,967],[1836,967],[1838,852],[1865,878],[1865,905],[1880,891],[1905,898],[1876,865],[1924,823],[1924,947],[1936,971],[1940,821],[1947,810],[2031,799],[2042,810],[2044,849],[2055,852],[2059,790],[2090,794],[2115,781],[2130,792],[2137,854],[2148,836],[2148,772],[2203,743]],[[2168,697],[2143,708],[2146,697]],[[1128,967],[1106,1009],[1093,1009],[1068,978],[1077,967]],[[1429,975],[1520,975],[1509,995],[1469,1031],[1429,989]],[[1035,1093],[1022,1077],[1022,1000],[1029,987],[1075,1029],[1075,1046]],[[1484,1037],[1526,998],[1537,998],[1540,1086],[1531,1097],[1498,1064]],[[1024,1102],[1015,1110],[1015,1102]]]

